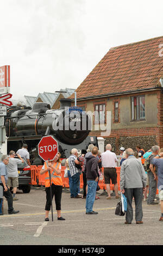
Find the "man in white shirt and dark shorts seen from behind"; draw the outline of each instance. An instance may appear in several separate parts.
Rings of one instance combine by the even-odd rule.
[[[106,184],[106,191],[108,192],[108,197],[106,199],[111,199],[110,195],[110,179],[112,184],[114,184],[114,190],[116,198],[118,195],[118,184],[117,184],[117,173],[116,173],[116,162],[118,162],[116,154],[111,152],[111,145],[106,145],[106,151],[102,153],[102,166],[104,167],[104,182]]]

